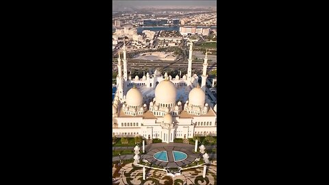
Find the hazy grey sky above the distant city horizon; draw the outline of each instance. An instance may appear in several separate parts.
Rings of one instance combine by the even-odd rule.
[[[125,0],[112,0],[113,9],[115,10],[117,8],[130,8],[130,7],[143,7],[143,6],[163,6],[163,7],[169,7],[169,6],[175,6],[175,7],[214,7],[216,6],[216,0],[212,1],[175,1],[175,0],[167,0],[167,1],[154,1],[154,0],[135,0],[135,1],[125,1]]]

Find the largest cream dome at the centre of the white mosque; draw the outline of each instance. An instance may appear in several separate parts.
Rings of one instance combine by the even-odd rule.
[[[173,82],[168,79],[163,80],[156,86],[156,103],[175,105],[176,101],[176,87]]]

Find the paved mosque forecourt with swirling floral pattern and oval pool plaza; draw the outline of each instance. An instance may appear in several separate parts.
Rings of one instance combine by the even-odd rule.
[[[184,143],[154,143],[145,145],[145,153],[141,154],[141,162],[148,162],[152,167],[164,168],[186,167],[202,158],[201,153],[193,152],[194,145]],[[141,148],[142,150],[142,148]],[[179,160],[174,152],[185,153],[185,158]],[[157,153],[167,153],[167,156],[157,159]],[[158,155],[159,156],[159,155]],[[161,155],[160,155],[161,156]],[[212,160],[207,164],[206,177],[202,177],[204,168],[197,167],[181,171],[181,175],[171,177],[166,172],[156,169],[146,169],[146,179],[143,180],[143,167],[138,167],[133,162],[114,164],[112,167],[112,184],[217,184],[217,161]]]

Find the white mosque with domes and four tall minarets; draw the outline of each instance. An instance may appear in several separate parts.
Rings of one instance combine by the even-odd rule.
[[[123,45],[123,75],[118,58],[117,92],[112,103],[112,134],[117,137],[143,136],[171,143],[175,138],[217,134],[217,105],[206,97],[207,53],[201,88],[192,75],[193,43],[190,43],[187,75],[174,78],[158,71],[142,79],[127,75],[127,51]]]

